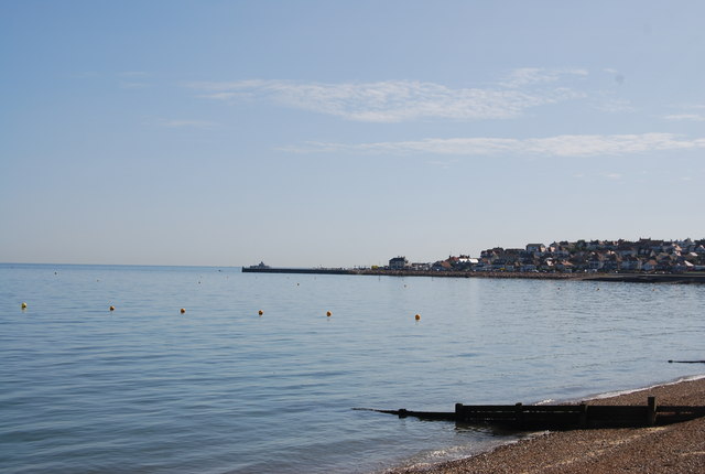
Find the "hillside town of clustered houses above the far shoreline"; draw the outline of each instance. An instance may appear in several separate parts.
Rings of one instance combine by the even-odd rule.
[[[372,267],[372,270],[379,269]],[[496,247],[477,258],[451,256],[433,263],[389,260],[386,270],[422,272],[520,272],[520,273],[685,273],[705,271],[705,239],[577,240],[524,248]]]

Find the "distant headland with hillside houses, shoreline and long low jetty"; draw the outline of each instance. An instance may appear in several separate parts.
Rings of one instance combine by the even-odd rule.
[[[705,282],[705,239],[577,240],[524,248],[495,247],[480,256],[451,256],[435,262],[394,257],[389,265],[357,268],[272,268],[263,262],[243,272],[380,274],[395,277],[540,278],[632,282]]]

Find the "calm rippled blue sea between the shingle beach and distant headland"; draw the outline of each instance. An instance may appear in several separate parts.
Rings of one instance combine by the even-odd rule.
[[[702,286],[0,265],[0,471],[454,459],[511,438],[351,408],[452,411],[693,375],[666,360],[703,358],[704,308]]]

